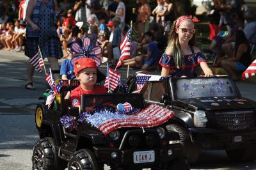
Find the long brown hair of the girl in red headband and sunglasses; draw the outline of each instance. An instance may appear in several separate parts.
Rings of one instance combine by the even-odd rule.
[[[176,33],[176,22],[177,20],[175,20],[172,24],[166,49],[171,49],[176,67],[181,68],[184,66],[184,59],[182,57],[183,54],[179,43],[179,35]],[[195,44],[195,34],[192,36],[191,40],[189,40],[188,44],[190,46]]]

